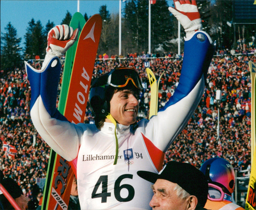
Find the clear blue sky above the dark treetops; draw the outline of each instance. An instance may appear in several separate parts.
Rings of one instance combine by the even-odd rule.
[[[88,17],[99,13],[101,5],[107,5],[109,13],[119,13],[119,0],[80,0],[80,12]],[[170,5],[172,1],[168,1]],[[122,3],[122,9],[125,3]],[[59,25],[65,18],[67,10],[73,15],[77,11],[76,0],[1,0],[1,32],[5,32],[4,27],[11,22],[17,30],[17,37],[22,38],[21,46],[24,43],[24,35],[28,22],[32,18],[40,20],[45,27],[48,20],[55,25]],[[2,35],[2,34],[1,34]]]

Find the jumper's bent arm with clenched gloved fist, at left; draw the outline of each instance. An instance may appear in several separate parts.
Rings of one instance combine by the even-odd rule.
[[[41,137],[68,161],[76,158],[79,147],[79,129],[56,109],[61,63],[59,57],[73,45],[78,30],[59,25],[50,30],[47,37],[46,55],[41,70],[25,62],[31,87],[30,115]],[[70,138],[76,139],[71,142]],[[69,153],[73,151],[74,155]],[[70,155],[71,154],[71,155]]]

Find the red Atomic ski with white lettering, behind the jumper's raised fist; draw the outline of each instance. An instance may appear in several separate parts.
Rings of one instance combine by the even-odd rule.
[[[95,58],[100,41],[102,20],[99,14],[93,15],[84,25],[76,48],[71,79],[68,87],[68,95],[64,116],[73,123],[83,123],[91,85]],[[55,161],[55,168],[59,173],[54,173],[50,200],[47,201],[47,209],[67,209],[73,181],[70,165],[76,175],[77,159],[68,162],[60,155]],[[69,178],[68,178],[69,177]],[[70,189],[66,189],[70,188]],[[53,199],[52,199],[52,198]],[[67,202],[65,202],[67,200]],[[43,207],[43,206],[42,206]]]

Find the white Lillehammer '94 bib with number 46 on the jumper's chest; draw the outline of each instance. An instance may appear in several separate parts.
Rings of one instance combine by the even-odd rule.
[[[118,129],[116,165],[113,165],[116,155],[114,124],[105,123],[94,135],[84,135],[77,159],[77,184],[80,205],[85,209],[150,208],[150,183],[136,172],[141,168],[158,171],[140,129],[131,135],[129,127]]]

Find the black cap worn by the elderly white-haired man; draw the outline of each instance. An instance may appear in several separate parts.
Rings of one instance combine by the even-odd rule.
[[[169,161],[159,174],[149,171],[137,171],[137,174],[151,183],[155,183],[157,179],[165,179],[172,183],[177,183],[190,195],[196,196],[202,209],[207,201],[207,178],[202,171],[189,163]]]

